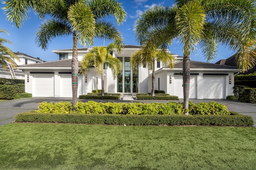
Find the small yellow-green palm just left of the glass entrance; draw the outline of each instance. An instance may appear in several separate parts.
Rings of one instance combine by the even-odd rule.
[[[104,96],[104,64],[106,63],[111,69],[114,79],[122,71],[121,61],[110,54],[114,48],[114,43],[110,43],[107,47],[94,47],[81,61],[81,72],[83,74],[91,66],[94,66],[96,71],[101,74],[102,96]]]

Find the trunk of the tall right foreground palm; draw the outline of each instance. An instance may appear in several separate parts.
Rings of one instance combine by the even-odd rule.
[[[188,100],[189,100],[189,87],[190,87],[190,59],[189,55],[183,57],[183,104],[184,104],[184,115],[188,115]]]

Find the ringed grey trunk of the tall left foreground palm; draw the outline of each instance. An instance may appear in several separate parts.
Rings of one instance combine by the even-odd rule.
[[[74,106],[77,102],[77,90],[78,90],[78,53],[77,53],[77,36],[76,31],[73,33],[73,54],[71,62],[71,72],[72,72],[72,102],[73,111],[75,111]]]

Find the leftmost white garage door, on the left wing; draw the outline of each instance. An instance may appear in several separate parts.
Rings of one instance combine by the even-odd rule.
[[[33,97],[54,97],[54,74],[34,74]]]

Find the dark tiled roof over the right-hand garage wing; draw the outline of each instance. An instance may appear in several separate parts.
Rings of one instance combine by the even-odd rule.
[[[179,61],[177,63],[174,63],[174,68],[182,68],[182,65],[183,65],[183,61]],[[169,68],[169,67],[165,66],[164,68]],[[234,67],[234,66],[205,63],[200,61],[190,61],[190,68],[191,69],[237,69],[237,67]]]

